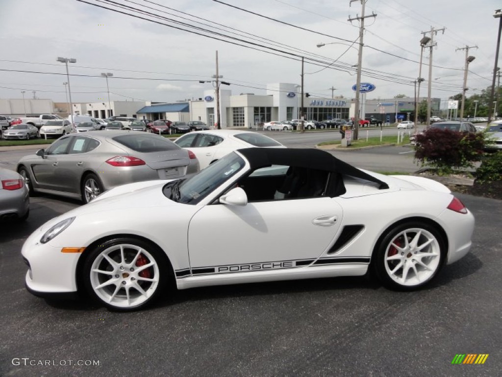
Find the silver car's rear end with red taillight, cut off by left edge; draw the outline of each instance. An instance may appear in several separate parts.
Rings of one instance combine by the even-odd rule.
[[[0,167],[0,221],[26,220],[30,214],[30,196],[23,177]]]

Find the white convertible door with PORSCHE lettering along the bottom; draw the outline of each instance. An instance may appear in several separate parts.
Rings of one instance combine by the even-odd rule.
[[[192,274],[305,266],[329,247],[342,214],[327,197],[205,206],[188,231]]]

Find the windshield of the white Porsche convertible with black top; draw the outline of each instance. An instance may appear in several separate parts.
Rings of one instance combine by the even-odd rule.
[[[244,165],[242,157],[235,152],[229,153],[191,178],[177,181],[176,186],[166,186],[169,190],[164,190],[164,195],[180,203],[197,204]]]

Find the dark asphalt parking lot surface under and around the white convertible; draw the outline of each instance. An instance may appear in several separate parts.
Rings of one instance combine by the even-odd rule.
[[[28,221],[0,233],[0,375],[500,375],[502,201],[458,197],[476,218],[472,249],[424,290],[365,277],[209,287],[126,314],[25,290],[24,240],[80,205],[32,198]],[[489,356],[451,363],[469,353]]]

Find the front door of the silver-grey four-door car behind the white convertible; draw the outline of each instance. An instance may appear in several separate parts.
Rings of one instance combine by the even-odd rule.
[[[71,139],[70,136],[59,138],[45,151],[44,156],[38,157],[36,162],[31,163],[35,182],[40,189],[60,190],[56,171],[60,158],[68,153]]]

